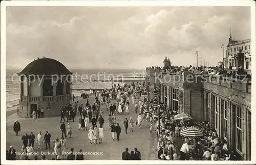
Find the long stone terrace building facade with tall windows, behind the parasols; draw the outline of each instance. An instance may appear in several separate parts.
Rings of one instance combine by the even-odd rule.
[[[162,73],[154,80],[168,108],[190,115],[194,122],[209,122],[240,160],[251,160],[251,79],[184,71]]]

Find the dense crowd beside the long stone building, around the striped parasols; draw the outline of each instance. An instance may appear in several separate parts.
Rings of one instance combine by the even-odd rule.
[[[207,121],[175,120],[178,113],[159,103],[157,97],[150,100],[150,110],[146,113],[147,120],[155,123],[159,160],[237,160],[226,137],[219,137]],[[181,136],[180,131],[186,127],[200,128],[203,136]]]

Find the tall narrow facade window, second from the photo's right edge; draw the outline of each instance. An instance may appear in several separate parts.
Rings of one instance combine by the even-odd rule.
[[[237,138],[236,138],[236,146],[237,150],[242,152],[242,109],[241,107],[237,106],[237,113],[236,113],[236,118],[237,118]]]

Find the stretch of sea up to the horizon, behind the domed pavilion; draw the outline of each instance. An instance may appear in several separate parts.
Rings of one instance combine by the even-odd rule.
[[[104,77],[109,77],[108,75],[119,75],[122,74],[125,77],[134,77],[140,76],[143,72],[145,72],[145,69],[69,69],[71,72],[73,72],[73,75],[76,73],[79,75],[78,78],[81,77],[81,75],[86,74],[88,76],[91,76],[92,79],[96,78],[96,75],[100,75],[99,79],[104,79]],[[18,72],[22,71],[22,69],[6,69],[6,111],[12,111],[17,108],[18,101],[19,101],[19,95],[20,95],[20,83],[16,83],[12,81],[12,75],[17,74]],[[102,78],[103,77],[103,78]],[[14,80],[17,80],[18,77],[14,76]],[[119,77],[118,79],[121,79]],[[129,79],[129,78],[124,78]],[[133,78],[136,81],[136,78]],[[137,78],[138,80],[138,78]],[[103,89],[103,88],[111,88],[112,82],[81,82],[81,81],[74,81],[72,83],[72,95],[75,94],[75,96],[80,96],[81,93],[84,93],[86,91],[81,89]],[[115,82],[119,84],[123,84],[123,82]]]

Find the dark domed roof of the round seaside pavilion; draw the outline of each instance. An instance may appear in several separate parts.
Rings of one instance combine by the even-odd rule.
[[[17,74],[72,74],[63,64],[59,61],[49,58],[37,59],[29,63],[21,72]]]

